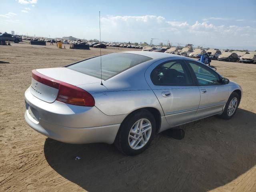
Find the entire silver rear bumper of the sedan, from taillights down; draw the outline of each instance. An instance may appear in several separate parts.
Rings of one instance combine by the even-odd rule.
[[[25,92],[26,123],[37,132],[65,143],[112,144],[125,115],[108,116],[98,108],[44,102]]]

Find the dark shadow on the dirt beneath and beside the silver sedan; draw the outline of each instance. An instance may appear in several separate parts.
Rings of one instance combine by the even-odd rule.
[[[255,113],[242,109],[230,120],[205,118],[184,125],[182,140],[158,134],[138,156],[121,154],[113,145],[50,138],[44,154],[58,174],[90,192],[208,191],[255,166],[255,120]]]

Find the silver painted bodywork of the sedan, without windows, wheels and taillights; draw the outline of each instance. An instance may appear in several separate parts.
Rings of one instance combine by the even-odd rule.
[[[168,60],[192,60],[183,56],[159,52],[127,52],[151,57],[152,60],[136,65],[103,81],[67,68],[38,69],[45,76],[78,86],[89,92],[94,107],[74,106],[55,100],[57,90],[37,83],[38,89],[25,92],[26,122],[36,131],[67,143],[114,142],[120,124],[140,108],[154,108],[160,113],[160,129],[191,122],[206,116],[221,114],[226,100],[234,90],[242,88],[230,81],[220,86],[156,86],[150,79],[152,70]],[[207,90],[202,94],[201,89]],[[40,94],[51,92],[52,96]],[[39,91],[39,93],[38,93]],[[164,97],[163,92],[170,92]],[[43,95],[40,97],[40,95]]]

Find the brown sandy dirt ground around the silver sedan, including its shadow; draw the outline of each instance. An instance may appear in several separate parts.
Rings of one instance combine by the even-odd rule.
[[[132,49],[107,48],[102,54],[120,50]],[[32,130],[24,120],[32,69],[99,53],[56,44],[0,46],[0,191],[256,191],[256,64],[212,61],[244,90],[234,118],[186,124],[183,140],[158,134],[138,156],[108,144],[64,144]]]

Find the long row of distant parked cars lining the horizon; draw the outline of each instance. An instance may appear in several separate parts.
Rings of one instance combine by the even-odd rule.
[[[106,48],[106,46],[113,46],[113,47],[123,47],[123,48],[136,48],[142,49],[142,51],[151,51],[151,52],[165,52],[169,54],[178,54],[182,56],[189,56],[197,58],[198,55],[206,52],[211,52],[210,58],[212,60],[218,59],[220,61],[239,61],[243,63],[256,63],[256,52],[243,52],[243,51],[233,51],[227,52],[225,50],[218,50],[218,49],[193,49],[192,46],[187,46],[184,48],[180,47],[160,47],[160,46],[141,46],[141,45],[133,45],[133,44],[121,44],[121,43],[104,43],[104,42],[88,42],[87,40],[67,40],[67,39],[50,39],[50,38],[38,38],[38,37],[26,37],[23,36],[17,37],[12,36],[12,34],[0,34],[0,38],[4,38],[6,40],[14,41],[16,43],[23,40],[33,40],[33,41],[42,41],[42,42],[63,42],[63,44],[88,44],[90,47],[94,48]]]

